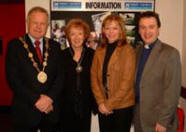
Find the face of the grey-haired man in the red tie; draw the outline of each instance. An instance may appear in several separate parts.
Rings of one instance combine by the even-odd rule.
[[[45,36],[48,27],[48,17],[45,13],[34,11],[27,21],[28,33],[36,40]]]

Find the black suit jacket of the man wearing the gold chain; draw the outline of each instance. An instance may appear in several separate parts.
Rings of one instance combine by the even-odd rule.
[[[36,50],[33,47],[30,38],[28,35],[25,35],[24,39],[34,55],[34,60],[39,64]],[[44,51],[45,48],[43,49],[43,52]],[[52,123],[57,122],[59,111],[57,108],[57,98],[60,94],[63,82],[60,56],[61,52],[59,44],[49,39],[48,65],[45,68],[48,79],[46,83],[41,84],[37,80],[38,71],[33,67],[22,42],[19,39],[13,39],[8,43],[6,75],[10,88],[14,94],[12,102],[13,122],[35,126],[44,116]],[[39,64],[39,67],[42,69],[42,65]],[[34,107],[40,94],[45,94],[54,101],[54,111],[48,115],[41,113]]]

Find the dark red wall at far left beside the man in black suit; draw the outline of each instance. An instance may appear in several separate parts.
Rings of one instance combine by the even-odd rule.
[[[7,42],[25,33],[25,4],[0,3],[0,36],[2,37],[2,54],[0,55],[0,106],[9,106],[12,92],[5,76],[5,55]],[[11,16],[11,17],[10,17]]]

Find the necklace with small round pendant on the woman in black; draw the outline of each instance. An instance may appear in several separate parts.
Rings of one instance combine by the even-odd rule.
[[[70,50],[70,54],[73,57],[74,54],[73,54],[73,51],[72,51],[71,47],[69,48],[69,50]],[[84,54],[85,54],[85,49],[83,48],[82,53],[81,53],[81,57],[80,57],[79,61],[77,62],[77,66],[76,66],[76,72],[77,73],[80,73],[83,70],[83,67],[82,67],[81,63],[82,63],[82,60],[84,58]]]

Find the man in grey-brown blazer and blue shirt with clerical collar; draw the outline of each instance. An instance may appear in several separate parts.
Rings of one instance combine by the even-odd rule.
[[[155,12],[141,14],[136,69],[135,132],[176,132],[181,88],[178,51],[158,39],[161,23]]]

